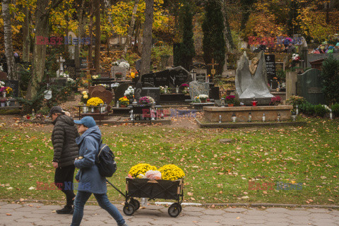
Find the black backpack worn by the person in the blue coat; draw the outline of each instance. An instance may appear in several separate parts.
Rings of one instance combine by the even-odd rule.
[[[114,161],[114,154],[108,145],[100,141],[99,153],[95,160],[99,173],[102,177],[112,177],[117,171],[117,162]]]

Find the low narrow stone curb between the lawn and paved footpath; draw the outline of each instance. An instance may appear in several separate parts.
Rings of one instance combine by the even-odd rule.
[[[64,203],[65,201],[58,201],[58,200],[6,200],[0,199],[0,201],[12,201],[16,203]],[[87,203],[97,203],[96,201],[88,201]],[[124,201],[111,201],[111,203],[124,203]],[[150,202],[150,204],[155,205],[154,203]],[[280,207],[280,208],[330,208],[330,209],[339,209],[339,206],[336,205],[300,205],[300,204],[283,204],[283,203],[201,203],[202,207],[246,207],[246,208],[261,208],[261,207]]]

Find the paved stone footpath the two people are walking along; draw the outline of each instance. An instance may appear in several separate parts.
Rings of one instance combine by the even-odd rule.
[[[121,205],[116,205],[122,213]],[[71,225],[71,215],[54,212],[58,205],[0,202],[0,225]],[[129,226],[148,225],[339,225],[339,210],[327,208],[203,208],[184,206],[177,218],[169,217],[166,206],[149,205],[132,216],[124,216]],[[117,225],[99,206],[85,206],[83,226]]]

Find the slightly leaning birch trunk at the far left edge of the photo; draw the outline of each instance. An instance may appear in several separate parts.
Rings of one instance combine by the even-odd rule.
[[[7,78],[17,80],[16,62],[14,61],[13,43],[12,43],[12,27],[11,27],[11,13],[9,12],[10,0],[2,1],[2,18],[4,19],[4,44],[5,55],[7,61],[8,74]]]

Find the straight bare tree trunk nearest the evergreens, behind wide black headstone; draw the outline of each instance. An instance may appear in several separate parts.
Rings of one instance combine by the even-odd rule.
[[[143,25],[143,52],[141,54],[141,76],[150,71],[150,54],[152,49],[154,0],[145,0],[145,3],[146,8],[145,8],[145,23]]]

